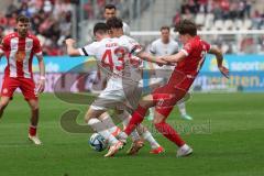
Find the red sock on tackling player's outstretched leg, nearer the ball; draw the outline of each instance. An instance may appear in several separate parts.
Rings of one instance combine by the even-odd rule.
[[[147,109],[145,109],[141,106],[138,107],[138,109],[132,114],[132,118],[131,118],[128,127],[124,130],[125,134],[130,135],[131,132],[136,128],[136,125],[143,121],[146,111],[147,111]]]

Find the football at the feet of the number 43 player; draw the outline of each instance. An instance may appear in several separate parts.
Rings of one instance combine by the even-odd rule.
[[[97,152],[102,152],[107,147],[107,143],[103,136],[101,136],[99,133],[94,133],[90,136],[89,144],[92,150]]]

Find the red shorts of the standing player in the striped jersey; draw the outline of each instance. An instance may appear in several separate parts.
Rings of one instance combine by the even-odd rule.
[[[37,99],[37,95],[35,94],[35,82],[33,79],[29,78],[10,78],[4,77],[1,96],[2,97],[13,97],[13,92],[16,88],[20,88],[25,100]]]

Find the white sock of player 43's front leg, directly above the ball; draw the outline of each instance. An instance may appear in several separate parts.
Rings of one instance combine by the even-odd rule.
[[[112,145],[119,141],[108,131],[107,127],[98,119],[92,118],[88,121],[88,125],[91,127],[96,132],[102,135]]]

